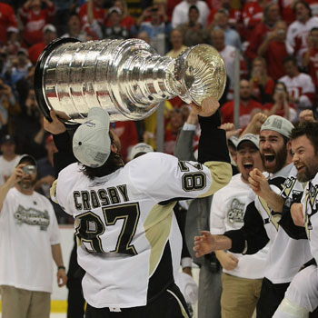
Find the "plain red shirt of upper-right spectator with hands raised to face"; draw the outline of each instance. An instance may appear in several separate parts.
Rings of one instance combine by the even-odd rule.
[[[264,58],[267,63],[267,74],[277,81],[283,77],[283,59],[288,55],[284,42],[271,41],[268,44]]]

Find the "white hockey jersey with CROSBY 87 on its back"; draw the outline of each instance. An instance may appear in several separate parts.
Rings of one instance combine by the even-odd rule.
[[[143,306],[173,283],[182,247],[175,200],[213,194],[231,174],[230,164],[179,162],[160,153],[144,154],[94,181],[81,165],[62,170],[52,196],[75,217],[87,303]]]

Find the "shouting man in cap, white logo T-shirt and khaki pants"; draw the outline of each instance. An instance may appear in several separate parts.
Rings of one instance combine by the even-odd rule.
[[[236,163],[241,174],[235,174],[229,184],[214,194],[210,214],[212,234],[223,234],[243,226],[244,208],[251,193],[249,174],[254,168],[263,171],[258,135],[243,134],[238,140]],[[261,292],[267,252],[267,247],[253,255],[215,252],[223,267],[222,317],[252,316]]]

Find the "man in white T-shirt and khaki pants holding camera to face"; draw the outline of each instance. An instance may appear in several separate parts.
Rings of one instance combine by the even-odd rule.
[[[52,257],[57,283],[66,283],[60,235],[52,204],[35,192],[36,164],[21,157],[0,187],[0,290],[3,318],[48,318]]]

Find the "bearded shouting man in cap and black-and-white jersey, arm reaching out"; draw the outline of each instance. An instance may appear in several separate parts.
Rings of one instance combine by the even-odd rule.
[[[293,276],[312,258],[306,240],[290,238],[279,225],[281,211],[276,212],[280,202],[277,194],[282,192],[283,183],[293,167],[287,155],[292,129],[293,124],[278,115],[269,116],[263,123],[260,152],[264,169],[270,174],[266,180],[257,169],[250,173],[249,183],[255,194],[246,206],[243,227],[224,235],[203,232],[202,236],[194,237],[197,256],[215,250],[253,254],[269,243],[261,295],[256,305],[257,318],[273,317]]]

